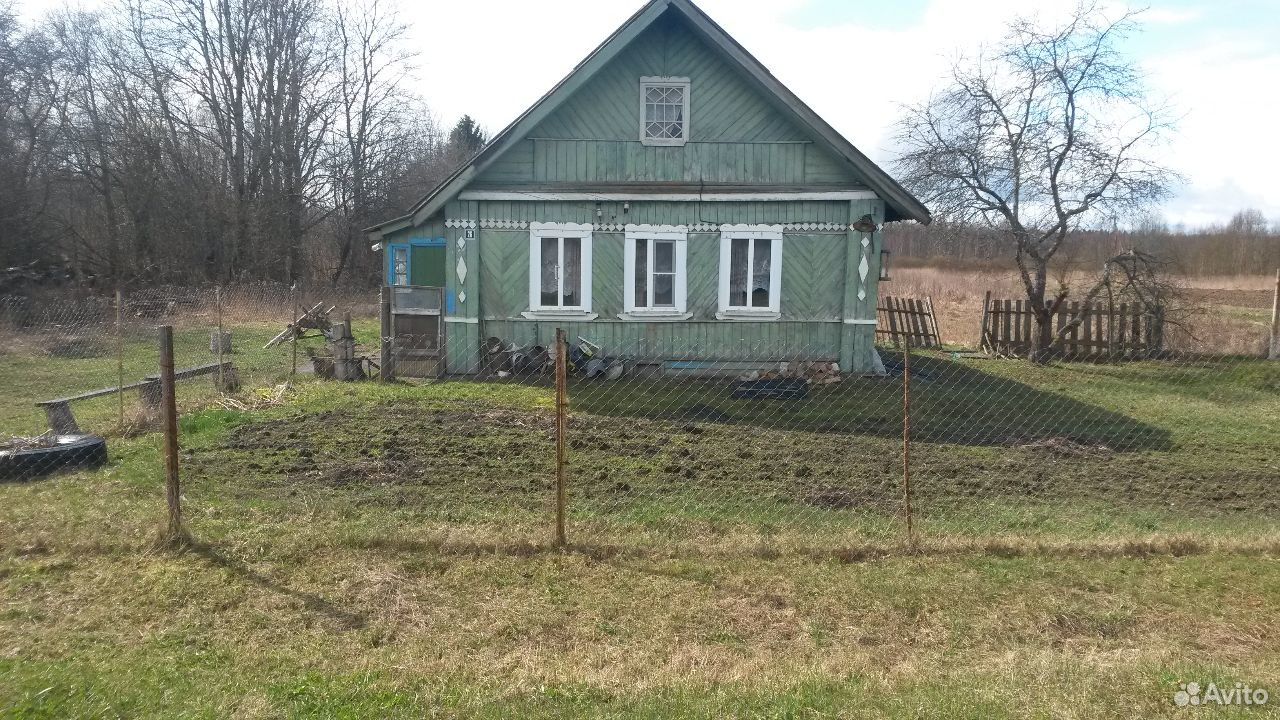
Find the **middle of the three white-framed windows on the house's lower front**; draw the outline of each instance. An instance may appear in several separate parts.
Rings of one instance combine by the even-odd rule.
[[[684,225],[626,225],[623,319],[678,318],[686,306],[689,231]]]

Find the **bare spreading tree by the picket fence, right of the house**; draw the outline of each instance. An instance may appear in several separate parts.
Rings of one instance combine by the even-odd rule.
[[[948,87],[899,123],[902,182],[940,217],[991,228],[1012,254],[1036,316],[1037,361],[1059,340],[1052,319],[1073,292],[1065,274],[1048,291],[1070,233],[1143,210],[1178,179],[1156,154],[1169,113],[1117,49],[1135,27],[1135,13],[1110,19],[1094,4],[1059,27],[1018,19],[997,47],[957,60]]]

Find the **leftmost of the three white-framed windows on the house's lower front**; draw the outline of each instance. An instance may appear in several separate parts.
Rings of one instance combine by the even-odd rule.
[[[591,225],[530,224],[529,309],[550,315],[591,311]]]

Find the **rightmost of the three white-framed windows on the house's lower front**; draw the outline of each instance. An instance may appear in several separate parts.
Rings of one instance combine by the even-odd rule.
[[[723,225],[717,318],[777,319],[781,310],[781,225]]]

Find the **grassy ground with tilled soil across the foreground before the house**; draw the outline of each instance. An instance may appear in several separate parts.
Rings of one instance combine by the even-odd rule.
[[[919,552],[883,380],[575,382],[563,551],[545,387],[189,414],[183,550],[113,441],[0,486],[0,717],[1277,714],[1274,365],[919,368]]]

